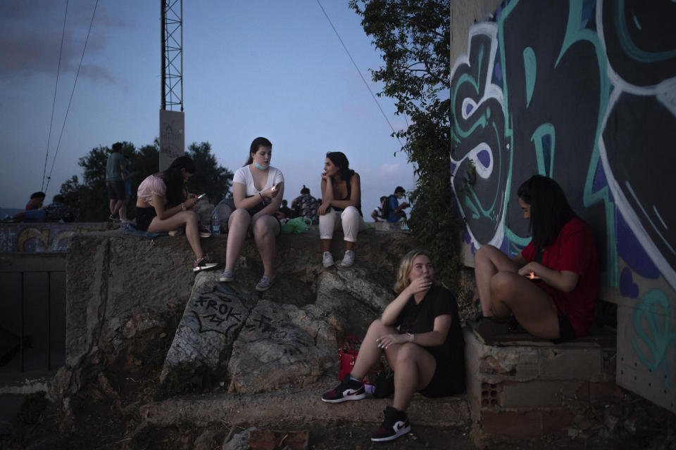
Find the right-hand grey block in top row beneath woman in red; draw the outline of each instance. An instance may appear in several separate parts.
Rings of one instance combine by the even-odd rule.
[[[538,362],[539,378],[543,380],[603,379],[603,354],[599,348],[541,348]]]

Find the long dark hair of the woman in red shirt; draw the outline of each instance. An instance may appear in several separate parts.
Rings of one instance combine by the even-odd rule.
[[[531,176],[519,186],[517,195],[530,205],[530,233],[536,252],[551,245],[563,226],[577,217],[561,186],[549,176]]]

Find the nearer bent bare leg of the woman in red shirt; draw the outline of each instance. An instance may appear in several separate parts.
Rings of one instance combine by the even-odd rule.
[[[556,309],[549,295],[534,283],[511,271],[495,274],[489,286],[492,311],[499,317],[514,314],[520,325],[538,338],[558,339],[560,330]]]

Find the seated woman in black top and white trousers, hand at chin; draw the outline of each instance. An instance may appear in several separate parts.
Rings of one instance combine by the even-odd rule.
[[[334,264],[331,255],[331,240],[338,223],[343,229],[345,255],[340,263],[343,267],[354,264],[354,243],[357,233],[366,228],[361,213],[361,179],[350,169],[350,163],[342,152],[328,152],[322,174],[322,204],[319,213],[319,237],[322,240],[322,264]]]

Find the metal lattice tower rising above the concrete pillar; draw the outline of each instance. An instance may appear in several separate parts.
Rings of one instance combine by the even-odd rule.
[[[162,2],[162,108],[183,110],[183,0]]]

